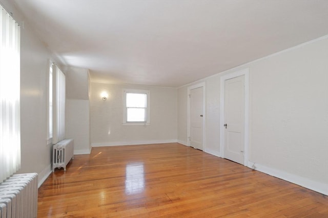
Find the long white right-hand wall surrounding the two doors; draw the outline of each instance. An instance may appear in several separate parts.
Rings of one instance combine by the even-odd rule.
[[[250,164],[328,195],[328,37],[201,80],[207,90],[204,147],[209,153],[220,152],[220,77],[247,67]],[[178,108],[187,107],[187,87],[178,90]],[[178,133],[179,140],[187,141],[185,125],[179,125]]]

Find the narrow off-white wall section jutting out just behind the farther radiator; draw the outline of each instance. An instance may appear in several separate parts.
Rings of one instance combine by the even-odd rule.
[[[90,154],[89,72],[66,70],[66,138],[74,139],[74,154]]]

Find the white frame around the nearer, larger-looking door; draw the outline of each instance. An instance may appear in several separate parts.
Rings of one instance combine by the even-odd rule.
[[[220,157],[224,158],[224,92],[226,80],[245,76],[245,95],[244,95],[244,166],[248,166],[249,161],[249,105],[250,105],[250,69],[245,68],[224,75],[220,78]]]

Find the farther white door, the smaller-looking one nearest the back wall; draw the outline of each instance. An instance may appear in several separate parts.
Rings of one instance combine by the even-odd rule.
[[[203,150],[203,87],[190,90],[190,146]]]

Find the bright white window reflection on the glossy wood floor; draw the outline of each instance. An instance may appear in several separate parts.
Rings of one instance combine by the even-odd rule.
[[[145,175],[143,163],[128,163],[126,168],[125,192],[132,195],[144,191]]]

